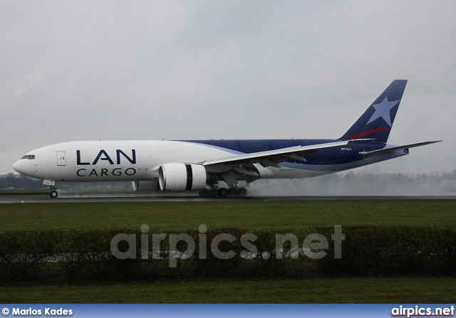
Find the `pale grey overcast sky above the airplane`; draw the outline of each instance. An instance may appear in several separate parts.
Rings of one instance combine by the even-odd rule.
[[[337,138],[392,80],[363,168],[456,169],[456,1],[0,0],[0,174],[48,144]]]

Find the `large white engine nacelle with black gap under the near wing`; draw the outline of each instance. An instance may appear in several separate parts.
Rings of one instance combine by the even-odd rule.
[[[158,174],[162,191],[197,191],[207,182],[206,168],[201,164],[162,164]]]

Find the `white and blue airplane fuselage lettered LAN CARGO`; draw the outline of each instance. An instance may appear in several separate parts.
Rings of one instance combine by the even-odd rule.
[[[37,179],[65,182],[150,181],[158,178],[162,164],[202,163],[237,154],[265,152],[294,146],[338,142],[337,139],[261,139],[261,140],[120,140],[63,142],[28,152],[34,159],[21,159],[14,169]],[[385,144],[351,142],[343,147],[321,149],[306,161],[289,160],[260,167],[261,176],[270,179],[306,178],[353,169],[407,154],[398,151],[383,156],[363,157],[359,152],[382,149]],[[26,156],[24,156],[26,157]]]

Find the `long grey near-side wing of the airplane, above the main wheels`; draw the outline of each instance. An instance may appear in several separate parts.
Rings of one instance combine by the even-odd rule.
[[[329,142],[327,144],[313,144],[311,146],[296,146],[283,149],[269,150],[267,152],[255,152],[253,154],[239,154],[238,156],[226,157],[221,159],[205,160],[201,164],[207,171],[223,171],[236,166],[261,164],[261,166],[275,166],[281,168],[279,162],[298,160],[306,161],[305,156],[315,154],[318,149],[343,146],[351,140],[343,142]]]

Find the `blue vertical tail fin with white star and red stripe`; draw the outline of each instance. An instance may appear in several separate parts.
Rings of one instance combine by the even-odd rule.
[[[340,139],[372,138],[386,143],[393,127],[407,80],[393,80]]]

